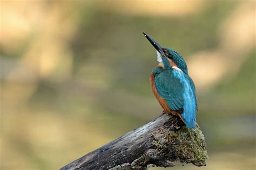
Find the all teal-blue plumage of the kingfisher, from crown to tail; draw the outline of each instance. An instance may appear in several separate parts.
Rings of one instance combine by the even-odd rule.
[[[181,117],[187,128],[194,128],[197,110],[196,88],[191,77],[188,76],[182,56],[170,48],[168,52],[169,58],[176,61],[180,70],[172,68],[168,59],[163,56],[164,68],[157,67],[152,72],[154,86],[158,95],[165,99],[171,110],[181,111]]]

